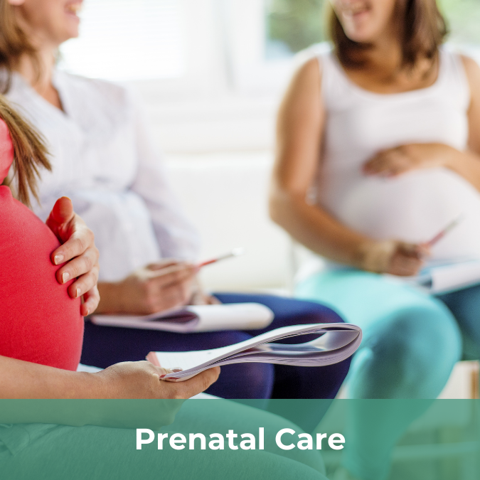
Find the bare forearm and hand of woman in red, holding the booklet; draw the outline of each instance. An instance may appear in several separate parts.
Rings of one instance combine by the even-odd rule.
[[[220,368],[210,368],[185,382],[160,380],[169,371],[141,361],[117,363],[99,373],[71,372],[0,356],[0,398],[181,400],[206,390],[217,380]],[[0,423],[128,426],[127,420],[133,417],[128,407],[122,410],[120,404],[119,410],[112,411],[111,402],[103,405],[103,402],[93,406],[86,402],[64,403],[64,408],[58,409],[55,403],[44,402],[30,410],[18,402],[4,403]],[[135,417],[156,427],[169,425],[181,402],[164,402],[162,406],[163,409],[155,403],[153,410],[146,408]]]

